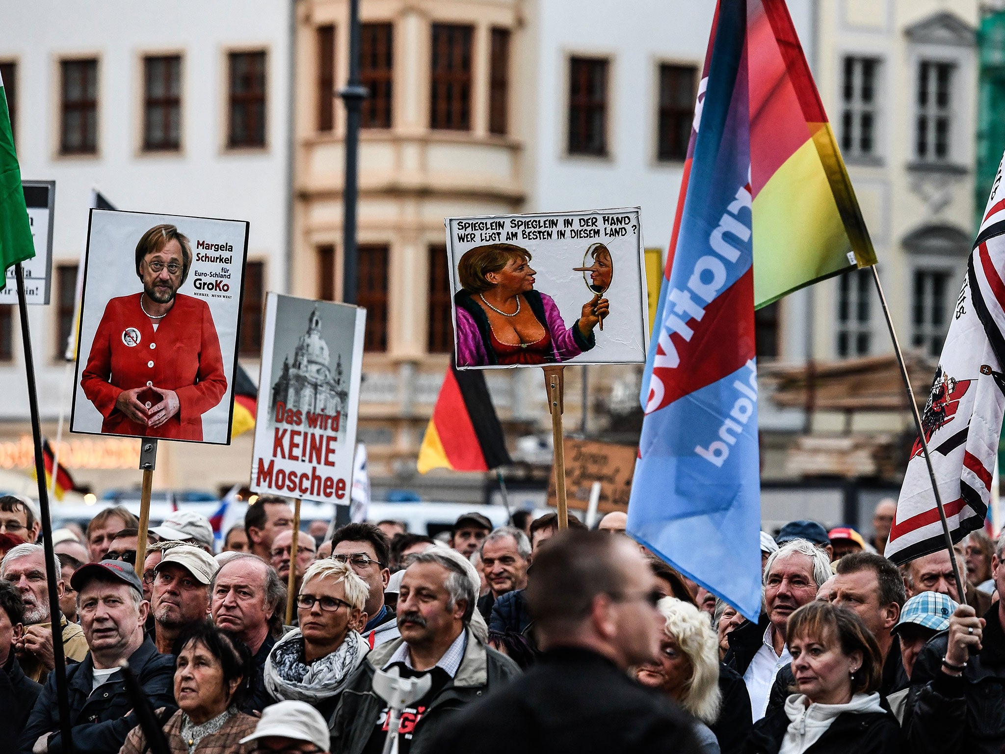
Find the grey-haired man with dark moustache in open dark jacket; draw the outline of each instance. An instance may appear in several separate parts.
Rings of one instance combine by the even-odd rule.
[[[332,750],[379,751],[388,709],[373,691],[376,671],[428,677],[429,691],[401,716],[399,743],[428,746],[451,713],[498,688],[520,671],[471,631],[477,574],[462,555],[430,548],[412,555],[401,582],[397,622],[401,638],[381,644],[350,678],[332,721]]]

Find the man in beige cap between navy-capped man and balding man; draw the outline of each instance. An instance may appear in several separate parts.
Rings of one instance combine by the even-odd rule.
[[[216,561],[201,548],[178,545],[164,553],[154,568],[151,586],[154,643],[159,652],[170,654],[182,631],[206,620],[209,582],[216,571]]]

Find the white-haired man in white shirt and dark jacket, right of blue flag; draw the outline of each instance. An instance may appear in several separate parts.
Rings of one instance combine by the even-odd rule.
[[[818,587],[833,575],[827,553],[804,539],[786,542],[764,569],[764,612],[729,634],[725,663],[744,677],[754,722],[764,717],[775,676],[792,662],[786,638],[789,615],[816,599]]]

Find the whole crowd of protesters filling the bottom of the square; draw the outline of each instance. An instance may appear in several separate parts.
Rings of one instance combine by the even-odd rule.
[[[178,754],[376,754],[389,727],[403,754],[999,754],[1005,540],[957,546],[961,595],[948,551],[883,557],[892,509],[868,542],[812,521],[762,532],[754,622],[625,536],[620,513],[592,532],[465,514],[446,542],[392,521],[316,527],[294,554],[288,502],[263,497],[219,554],[181,511],[137,564],[137,522],[112,508],[82,542],[58,531],[49,563],[33,506],[0,498],[0,749],[67,750],[51,569],[80,754],[161,750],[124,665]],[[392,708],[389,679],[418,691]]]

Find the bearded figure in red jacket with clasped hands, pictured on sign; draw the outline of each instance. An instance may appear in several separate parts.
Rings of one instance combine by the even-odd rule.
[[[202,439],[202,414],[227,378],[209,306],[178,293],[191,264],[189,239],[174,225],[155,225],[137,243],[143,293],[108,303],[80,378],[102,432]]]

